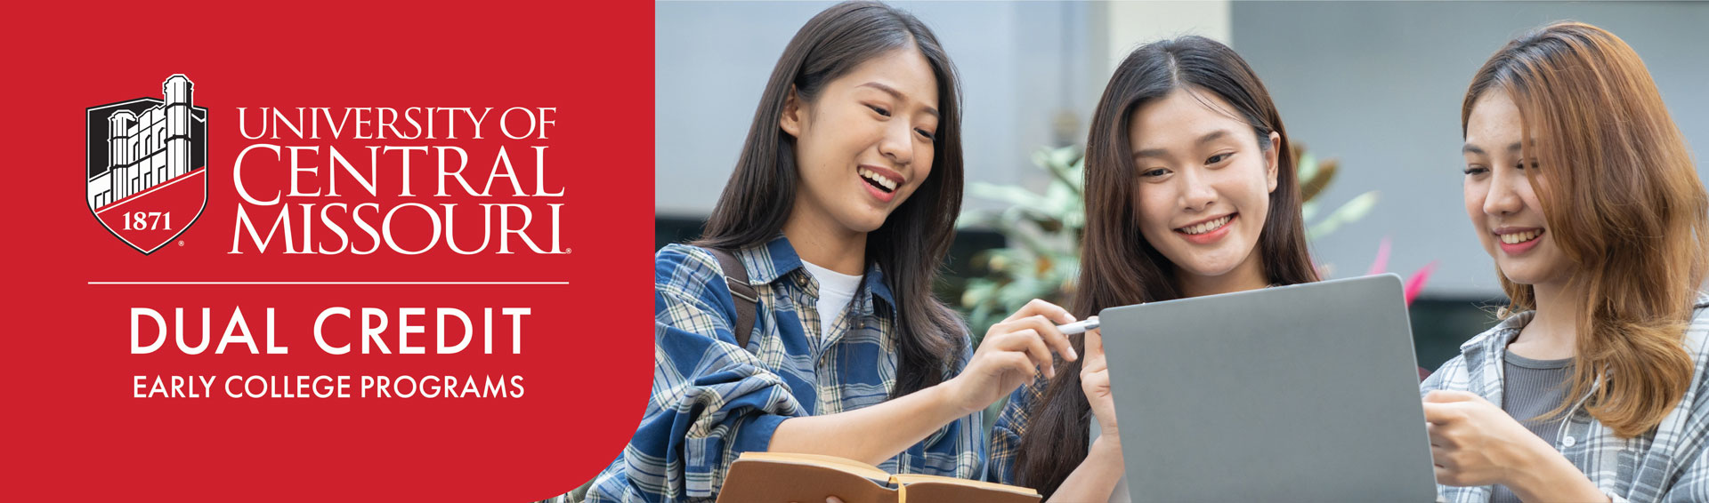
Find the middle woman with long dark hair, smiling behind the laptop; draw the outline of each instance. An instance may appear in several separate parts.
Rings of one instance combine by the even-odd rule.
[[[1186,36],[1121,61],[1092,116],[1085,198],[1082,317],[1318,280],[1282,116],[1222,43]],[[1102,341],[1097,331],[1072,341],[1085,360],[1010,397],[990,474],[1049,501],[1106,501],[1123,460]]]

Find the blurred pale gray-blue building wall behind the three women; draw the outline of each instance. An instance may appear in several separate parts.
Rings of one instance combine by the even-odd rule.
[[[778,55],[827,5],[656,3],[656,246],[699,234]],[[1049,184],[1049,174],[1032,165],[1034,152],[1085,142],[1111,68],[1131,48],[1179,34],[1229,43],[1268,85],[1294,142],[1340,160],[1319,201],[1335,208],[1379,193],[1360,220],[1313,242],[1316,261],[1335,278],[1362,275],[1388,239],[1389,271],[1408,276],[1437,264],[1412,305],[1418,360],[1427,368],[1492,326],[1494,307],[1504,302],[1461,201],[1459,99],[1471,73],[1507,39],[1562,19],[1618,34],[1644,58],[1690,145],[1709,148],[1706,2],[894,5],[931,26],[960,72],[967,179],[1034,191]],[[969,198],[967,206],[1000,210],[1001,203]],[[979,275],[972,257],[1005,242],[1000,232],[964,230],[947,288]]]

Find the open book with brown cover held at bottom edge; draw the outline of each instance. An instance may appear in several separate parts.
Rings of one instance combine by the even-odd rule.
[[[875,465],[834,455],[743,452],[718,503],[800,501],[837,496],[849,503],[1037,503],[1039,491],[938,476],[892,476]]]

